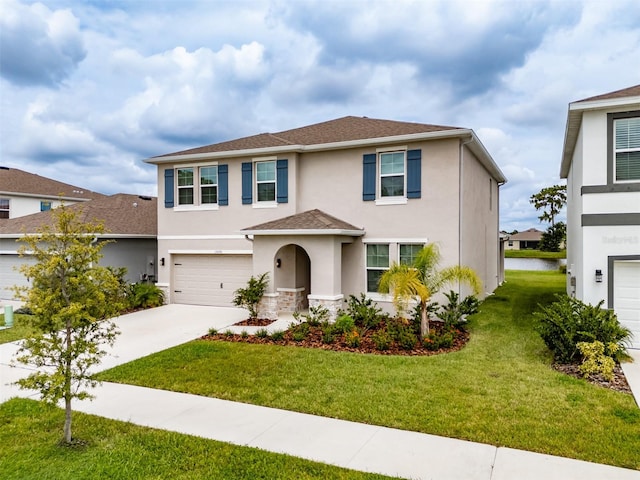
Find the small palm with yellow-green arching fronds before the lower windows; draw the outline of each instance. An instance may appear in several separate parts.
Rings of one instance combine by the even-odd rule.
[[[464,282],[471,286],[475,294],[480,293],[481,282],[473,269],[463,265],[439,269],[441,258],[438,246],[429,243],[418,252],[413,265],[394,263],[380,277],[378,290],[393,294],[398,315],[407,310],[411,300],[418,300],[421,338],[429,335],[429,300],[443,286]]]

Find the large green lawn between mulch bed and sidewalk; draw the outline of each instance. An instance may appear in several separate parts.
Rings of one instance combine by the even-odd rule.
[[[537,305],[563,289],[556,272],[509,271],[472,318],[469,344],[446,355],[199,340],[102,379],[640,468],[633,398],[551,369],[533,330]]]

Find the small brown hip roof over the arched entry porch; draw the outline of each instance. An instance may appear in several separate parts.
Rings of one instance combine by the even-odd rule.
[[[283,235],[297,233],[301,235],[364,235],[364,230],[348,222],[340,220],[322,210],[308,210],[270,222],[254,225],[242,230],[243,233],[255,235]]]

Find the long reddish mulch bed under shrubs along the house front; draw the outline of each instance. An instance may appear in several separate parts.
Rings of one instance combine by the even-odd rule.
[[[239,325],[239,324],[236,324]],[[442,329],[442,325],[438,322],[431,323],[431,331],[438,331]],[[387,350],[378,350],[376,344],[372,340],[371,336],[375,333],[375,330],[371,329],[365,332],[360,339],[360,345],[358,347],[350,347],[345,343],[344,335],[336,335],[333,343],[324,343],[322,341],[322,329],[320,327],[309,327],[309,334],[302,340],[295,340],[293,338],[293,332],[286,330],[282,340],[273,340],[270,337],[260,338],[256,335],[242,336],[239,334],[227,334],[216,333],[215,335],[205,335],[203,340],[223,340],[227,342],[243,342],[243,343],[255,343],[262,345],[289,345],[307,348],[320,348],[322,350],[333,350],[340,352],[354,352],[354,353],[370,353],[376,355],[437,355],[440,353],[455,352],[464,347],[469,340],[469,333],[466,330],[457,330],[456,336],[451,348],[442,348],[440,350],[427,350],[422,346],[420,342],[416,343],[416,346],[411,350],[406,350],[401,346],[393,342]]]

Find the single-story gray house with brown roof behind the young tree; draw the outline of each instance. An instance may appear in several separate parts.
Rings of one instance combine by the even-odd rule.
[[[155,280],[157,232],[157,199],[137,195],[100,195],[90,202],[69,205],[70,210],[82,212],[83,222],[102,222],[106,232],[98,241],[114,240],[102,250],[101,265],[126,267],[127,280]],[[18,268],[34,262],[29,257],[19,257],[18,240],[24,234],[37,233],[44,225],[52,225],[51,211],[25,215],[0,221],[0,299],[14,298],[12,286],[27,286],[27,279]]]

